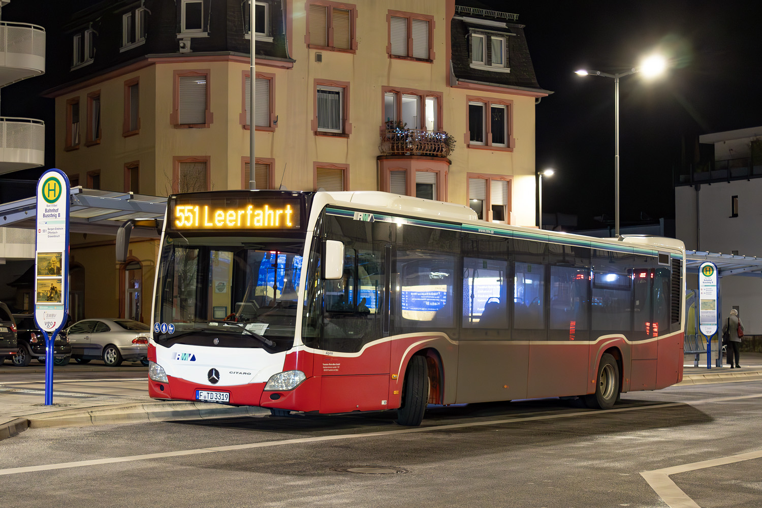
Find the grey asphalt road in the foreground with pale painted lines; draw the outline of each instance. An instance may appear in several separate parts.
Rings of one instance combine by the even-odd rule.
[[[0,442],[0,504],[762,506],[762,382],[635,392],[612,411],[546,399],[393,418],[29,429]]]

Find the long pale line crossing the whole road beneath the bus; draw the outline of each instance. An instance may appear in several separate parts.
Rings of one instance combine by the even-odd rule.
[[[486,427],[489,425],[501,425],[504,423],[522,423],[528,421],[538,420],[554,420],[561,418],[572,417],[585,417],[585,416],[599,416],[611,413],[626,413],[629,411],[642,411],[645,409],[664,409],[666,407],[686,407],[693,404],[709,404],[712,402],[725,402],[725,401],[738,401],[747,398],[762,398],[760,395],[741,395],[738,397],[723,397],[723,398],[708,398],[701,401],[693,401],[690,404],[685,402],[669,402],[667,404],[651,404],[648,406],[636,406],[636,407],[619,407],[616,409],[607,409],[605,411],[582,411],[566,414],[543,414],[535,417],[523,417],[523,418],[507,418],[503,420],[488,420],[480,422],[470,423],[452,423],[450,425],[436,425],[433,427],[416,427],[415,429],[398,429],[398,430],[380,430],[378,432],[361,433],[361,434],[339,434],[336,436],[315,436],[315,437],[302,437],[296,439],[283,439],[280,441],[264,441],[261,443],[246,443],[243,445],[229,445],[229,446],[216,446],[211,448],[200,448],[190,450],[178,450],[175,452],[160,452],[160,453],[146,453],[143,455],[126,455],[123,457],[110,457],[110,458],[95,458],[85,461],[77,462],[59,462],[58,464],[45,464],[45,465],[30,465],[22,466],[18,468],[5,468],[0,469],[0,476],[7,474],[19,474],[28,473],[32,471],[52,471],[54,469],[66,469],[66,468],[81,468],[88,465],[101,465],[101,464],[116,464],[118,462],[133,462],[138,460],[146,460],[149,458],[166,458],[166,457],[179,457],[183,455],[197,455],[199,453],[210,452],[232,452],[237,450],[245,450],[252,448],[265,448],[268,446],[281,446],[281,445],[293,445],[299,443],[319,443],[321,441],[336,441],[338,439],[357,439],[364,437],[379,437],[379,436],[393,436],[397,434],[412,434],[419,432],[432,432],[434,430],[453,430],[453,429],[465,429],[468,427]],[[687,505],[690,506],[690,505]],[[677,507],[673,507],[677,508]],[[680,506],[680,508],[683,508]],[[695,508],[695,506],[691,507]]]

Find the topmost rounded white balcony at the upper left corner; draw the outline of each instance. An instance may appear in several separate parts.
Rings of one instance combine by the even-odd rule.
[[[45,72],[45,29],[0,21],[0,88]]]

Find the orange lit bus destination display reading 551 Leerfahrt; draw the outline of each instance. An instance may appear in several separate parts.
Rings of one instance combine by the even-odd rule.
[[[245,198],[177,198],[169,208],[169,223],[177,231],[256,231],[301,228],[299,200]]]

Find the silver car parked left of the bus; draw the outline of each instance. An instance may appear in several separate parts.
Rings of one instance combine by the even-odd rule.
[[[151,328],[132,319],[83,319],[66,329],[77,363],[103,359],[107,366],[123,360],[148,365],[148,339]]]

